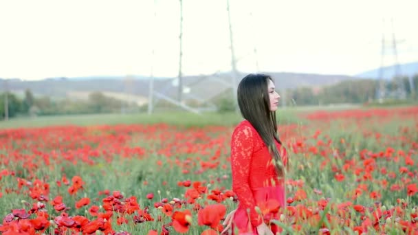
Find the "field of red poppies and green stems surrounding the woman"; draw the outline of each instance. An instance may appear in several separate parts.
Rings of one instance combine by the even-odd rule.
[[[297,116],[278,124],[289,153],[287,207],[257,211],[282,213],[272,223],[283,234],[418,234],[418,107]],[[0,129],[0,233],[220,234],[238,203],[233,129]]]

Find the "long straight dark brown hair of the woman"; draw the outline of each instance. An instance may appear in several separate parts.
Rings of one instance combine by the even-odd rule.
[[[238,85],[237,98],[241,115],[254,126],[272,154],[278,177],[285,176],[285,167],[274,139],[281,143],[277,135],[276,112],[270,111],[268,80],[265,74],[248,74]],[[274,82],[272,80],[272,82]]]

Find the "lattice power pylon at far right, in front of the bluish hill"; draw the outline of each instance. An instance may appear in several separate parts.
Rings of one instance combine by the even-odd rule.
[[[389,45],[392,49],[393,53],[393,59],[394,64],[393,68],[395,70],[395,76],[393,79],[395,80],[395,83],[397,84],[397,90],[395,92],[393,91],[386,91],[386,82],[384,79],[384,57],[386,56],[386,49],[388,49],[388,46],[386,45],[386,38],[385,38],[385,21],[383,19],[382,22],[383,29],[382,29],[382,49],[381,49],[381,55],[380,55],[380,69],[379,69],[379,86],[377,88],[377,99],[382,102],[385,98],[388,98],[388,96],[393,96],[393,98],[398,99],[404,99],[406,98],[406,91],[405,91],[405,85],[401,78],[401,67],[399,65],[399,60],[397,56],[397,42],[395,38],[395,29],[393,26],[393,19],[391,19],[391,31],[392,31],[392,37],[391,37],[391,45]]]

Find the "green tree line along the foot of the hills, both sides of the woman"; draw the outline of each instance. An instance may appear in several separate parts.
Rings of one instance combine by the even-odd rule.
[[[401,81],[401,82],[399,82]],[[391,104],[401,102],[393,96],[399,84],[403,85],[405,100],[418,99],[418,74],[412,78],[393,78],[385,82],[384,88],[387,100]],[[298,105],[327,105],[327,104],[370,104],[377,103],[377,91],[380,87],[378,80],[358,79],[344,80],[334,85],[325,87],[298,87],[287,89],[283,93],[282,102],[286,106]],[[229,92],[228,92],[229,94]],[[234,110],[233,100],[228,94],[223,94],[213,100],[219,111]],[[226,96],[228,95],[228,96]],[[118,100],[105,96],[99,91],[89,93],[87,100],[74,100],[69,98],[53,99],[48,96],[35,97],[30,89],[27,89],[23,98],[14,93],[8,93],[8,117],[17,115],[64,115],[64,114],[89,114],[89,113],[120,113],[125,111],[145,111],[146,107],[138,107],[133,102]],[[160,102],[160,106],[170,108],[170,104]],[[171,105],[173,106],[173,105]],[[5,117],[5,93],[0,93],[0,116]]]

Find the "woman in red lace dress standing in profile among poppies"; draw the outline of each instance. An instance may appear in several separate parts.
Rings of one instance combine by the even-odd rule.
[[[238,86],[238,105],[245,120],[231,140],[232,190],[239,205],[225,219],[224,232],[276,234],[269,222],[285,208],[287,154],[277,135],[280,96],[270,76],[249,74]],[[232,217],[232,219],[231,219]],[[232,230],[231,230],[232,229]]]

